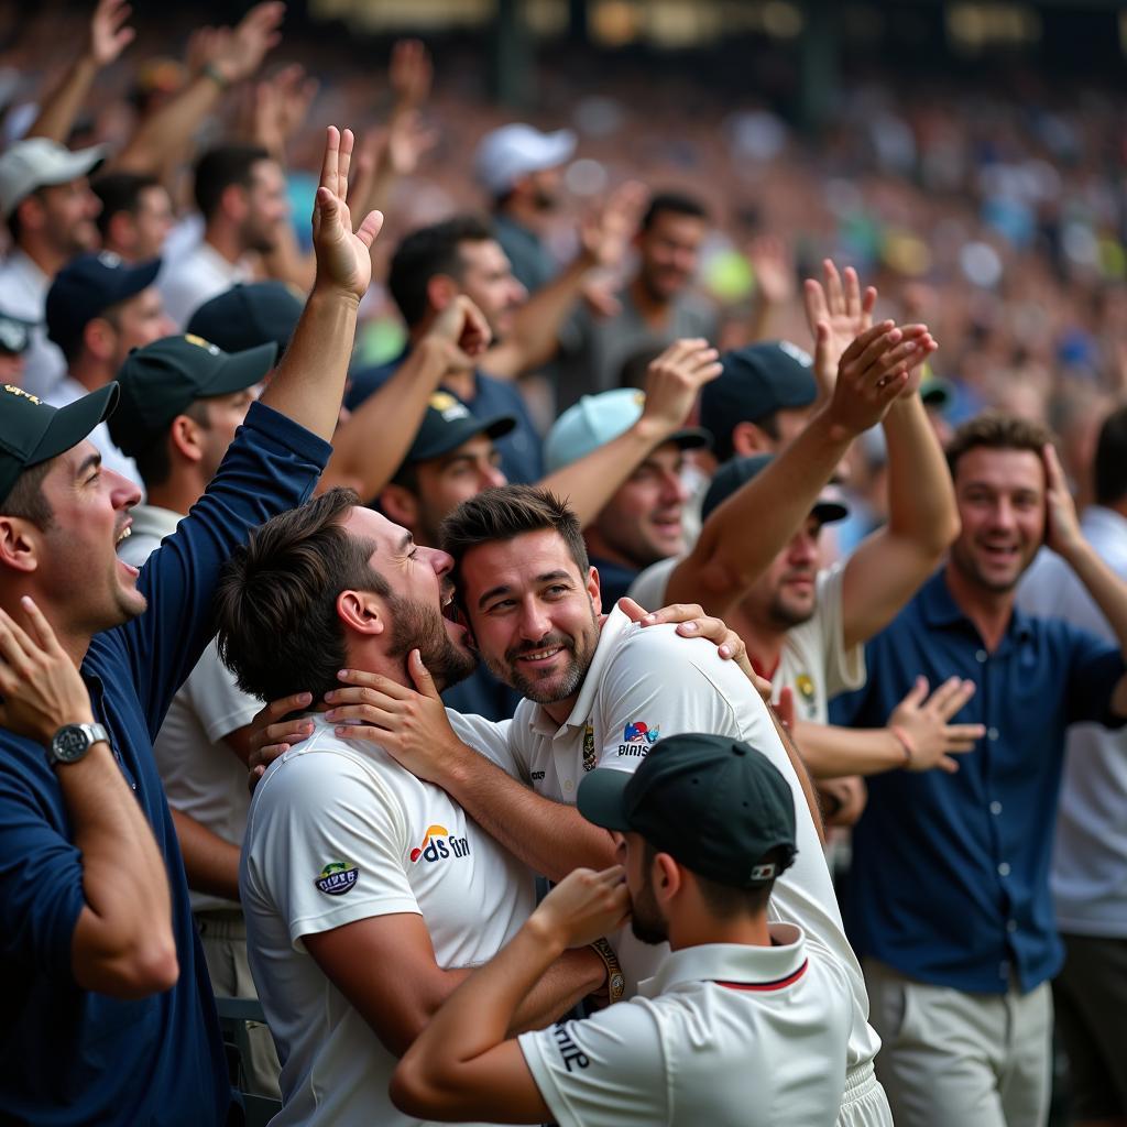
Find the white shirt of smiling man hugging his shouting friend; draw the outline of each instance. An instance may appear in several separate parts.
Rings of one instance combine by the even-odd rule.
[[[674,625],[641,629],[615,609],[603,623],[598,646],[575,707],[557,725],[539,704],[524,700],[508,726],[509,773],[539,795],[575,805],[586,771],[596,766],[633,771],[662,737],[707,731],[743,739],[762,751],[795,795],[798,858],[775,882],[771,919],[792,923],[842,962],[853,992],[848,1063],[860,1067],[880,1048],[868,1024],[869,996],[845,938],[822,844],[801,783],[758,693],[716,646],[676,636]],[[461,733],[460,733],[461,735]],[[496,746],[470,746],[500,761]],[[505,765],[505,764],[503,764]],[[667,946],[647,947],[623,929],[614,938],[628,995],[657,973]]]

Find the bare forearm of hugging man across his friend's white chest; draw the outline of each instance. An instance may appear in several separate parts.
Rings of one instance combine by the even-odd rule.
[[[549,880],[580,866],[602,870],[614,863],[605,829],[574,806],[541,798],[477,752],[467,748],[435,781],[490,837]]]

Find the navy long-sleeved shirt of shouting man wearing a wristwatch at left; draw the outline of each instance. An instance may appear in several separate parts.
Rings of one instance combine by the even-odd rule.
[[[82,857],[38,744],[0,729],[0,1119],[36,1124],[222,1124],[230,1102],[207,967],[152,740],[212,635],[215,580],[247,532],[312,492],[331,447],[251,406],[206,495],[154,551],[149,610],[96,635],[81,672],[126,781],[168,863],[179,978],[133,1001],[78,987],[71,941]]]

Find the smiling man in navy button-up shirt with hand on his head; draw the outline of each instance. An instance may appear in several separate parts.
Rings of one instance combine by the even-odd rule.
[[[962,531],[947,565],[868,644],[866,689],[832,712],[837,722],[884,725],[922,672],[932,684],[974,682],[953,719],[986,727],[957,774],[871,780],[854,831],[864,880],[851,882],[845,915],[885,1041],[878,1072],[906,1127],[1040,1124],[1048,1107],[1048,979],[1062,961],[1048,827],[1065,728],[1127,718],[1127,584],[1084,539],[1049,438],[1002,415],[956,432],[948,462]],[[1042,541],[1075,571],[1118,646],[1014,606]]]

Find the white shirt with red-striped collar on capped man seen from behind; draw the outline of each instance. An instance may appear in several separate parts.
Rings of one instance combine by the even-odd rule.
[[[668,955],[640,996],[523,1033],[560,1127],[829,1127],[845,1086],[844,968],[798,928]]]

